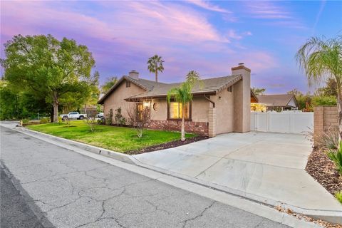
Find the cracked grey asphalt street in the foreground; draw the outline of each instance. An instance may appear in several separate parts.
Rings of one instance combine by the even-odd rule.
[[[1,227],[286,227],[7,128],[1,164]]]

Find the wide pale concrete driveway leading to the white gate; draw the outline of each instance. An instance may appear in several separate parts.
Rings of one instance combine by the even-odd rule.
[[[341,204],[304,170],[311,150],[304,135],[250,132],[134,157],[259,202],[342,212]]]

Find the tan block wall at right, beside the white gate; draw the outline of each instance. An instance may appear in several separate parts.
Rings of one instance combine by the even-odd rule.
[[[333,125],[338,125],[336,106],[319,106],[314,108],[314,134],[320,135]]]

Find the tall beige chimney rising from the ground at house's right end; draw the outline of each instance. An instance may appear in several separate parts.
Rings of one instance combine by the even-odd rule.
[[[246,133],[250,130],[251,115],[251,70],[239,63],[232,67],[232,75],[241,75],[242,80],[233,86],[234,132]]]

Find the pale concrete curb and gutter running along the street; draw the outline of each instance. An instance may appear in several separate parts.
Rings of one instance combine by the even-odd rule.
[[[4,128],[8,128],[4,125],[1,125],[1,126]],[[120,152],[105,150],[101,147],[86,145],[82,142],[76,142],[73,140],[67,140],[64,138],[59,138],[59,137],[56,137],[53,135],[48,135],[48,134],[40,133],[40,132],[37,132],[34,130],[29,130],[27,128],[9,128],[9,129],[16,130],[20,133],[30,135],[34,138],[38,138],[39,140],[43,140],[43,141],[52,143],[53,145],[58,145],[60,147],[64,147],[68,150],[78,152],[82,155],[86,155],[88,157],[93,157],[96,160],[102,160],[103,162],[107,162],[107,163],[110,163],[112,165],[114,165],[113,160],[109,162],[106,159],[113,158],[116,160],[116,162],[121,162],[120,165],[115,162],[116,163],[115,166],[122,167],[125,170],[130,170],[132,172],[136,172],[140,175],[145,175],[147,177],[150,177],[150,175],[151,175],[150,172],[153,172],[152,177],[155,178],[156,173],[157,173],[160,175],[160,177],[155,178],[156,180],[160,180],[161,182],[165,182],[169,185],[173,185],[175,187],[179,187],[179,188],[182,188],[184,190],[194,192],[194,193],[196,193],[198,195],[202,195],[204,197],[215,199],[215,200],[222,202],[224,204],[228,204],[228,205],[231,205],[233,207],[243,209],[244,211],[250,212],[252,214],[257,214],[261,217],[271,219],[272,221],[279,222],[281,224],[286,224],[286,225],[289,225],[291,227],[300,227],[300,228],[301,227],[320,227],[317,224],[314,224],[312,222],[306,222],[304,220],[296,219],[295,217],[293,217],[289,214],[277,211],[276,209],[274,209],[274,207],[271,204],[271,202],[269,201],[269,199],[267,199],[268,202],[265,202],[265,199],[261,199],[261,198],[260,199],[251,199],[250,195],[246,195],[246,194],[243,195],[241,192],[237,192],[236,190],[229,189],[228,187],[223,187],[220,185],[214,185],[214,184],[209,183],[209,182],[197,180],[193,177],[180,175],[180,174],[177,174],[175,172],[170,172],[168,170],[162,170],[158,167],[152,167],[150,165],[145,165],[131,155],[125,155],[125,154],[120,153]],[[41,136],[43,136],[43,137],[41,137]],[[56,141],[61,142],[61,143],[66,144],[66,145],[61,145],[61,143],[56,143]],[[80,150],[80,148],[81,148],[81,150]],[[88,152],[93,153],[93,155],[87,154]],[[104,157],[99,156],[99,155],[103,155]],[[103,157],[103,158],[101,158],[101,157]],[[106,157],[108,157],[108,158],[106,158]],[[122,162],[125,162],[125,163],[122,163]],[[125,167],[127,165],[130,165],[130,166],[133,165],[134,167],[138,167],[140,170],[137,172],[136,168],[132,169],[132,167],[130,167],[130,168]],[[179,184],[180,182],[182,183],[181,185]],[[185,186],[187,186],[187,187],[185,187]],[[214,191],[214,193],[212,193],[211,195],[208,196],[206,190],[201,190],[200,192],[198,192],[198,189],[202,189],[202,188],[206,189],[207,191]],[[218,195],[220,195],[220,197],[218,197]],[[222,198],[227,198],[227,197],[230,199],[222,201]],[[232,198],[237,198],[234,200],[235,201],[238,200],[240,202],[233,204],[232,202],[234,202],[234,200],[232,200]],[[241,201],[243,201],[243,202],[241,202]],[[252,206],[249,204],[252,204]],[[278,204],[280,204],[280,202],[278,202]],[[296,208],[294,208],[293,211],[296,212]],[[321,216],[325,216],[324,220],[336,223],[335,220],[331,221],[331,219],[329,219],[331,217],[329,217],[329,215],[326,214],[326,212],[323,211],[323,214],[319,213],[321,211],[315,211],[315,212],[316,213],[311,213],[310,216],[311,217],[318,217],[320,219],[323,219],[323,217],[321,217]],[[303,212],[298,212],[298,213],[304,214]],[[339,214],[341,214],[341,213],[339,213]],[[336,218],[336,215],[333,215],[333,218]],[[341,219],[341,216],[338,216],[336,219]]]

